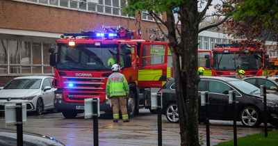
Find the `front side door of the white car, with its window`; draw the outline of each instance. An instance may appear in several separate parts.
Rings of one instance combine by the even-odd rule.
[[[42,82],[42,99],[44,102],[44,109],[50,108],[50,106],[53,106],[54,104],[54,92],[52,90],[52,88],[50,90],[45,90],[45,87],[52,87],[51,86],[51,82],[49,81],[48,78],[44,78],[43,82]]]

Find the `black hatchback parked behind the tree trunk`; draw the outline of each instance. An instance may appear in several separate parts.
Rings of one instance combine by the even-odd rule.
[[[177,100],[175,95],[174,79],[170,79],[158,92],[163,93],[163,114],[169,122],[178,122]],[[238,121],[247,127],[259,126],[262,122],[263,98],[260,89],[245,81],[227,77],[201,77],[198,86],[199,121],[204,121],[204,107],[200,106],[202,91],[208,91],[210,119],[232,120],[233,108],[229,105],[229,90],[236,91],[238,102]],[[278,96],[268,94],[268,122],[278,125]]]

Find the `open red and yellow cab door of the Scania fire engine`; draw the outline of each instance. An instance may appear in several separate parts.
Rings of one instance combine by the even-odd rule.
[[[143,42],[140,46],[138,86],[161,88],[167,80],[166,42]]]

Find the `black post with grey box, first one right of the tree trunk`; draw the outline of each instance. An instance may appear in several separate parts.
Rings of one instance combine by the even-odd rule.
[[[209,99],[208,91],[201,92],[201,106],[206,106],[206,145],[211,145],[209,131]]]

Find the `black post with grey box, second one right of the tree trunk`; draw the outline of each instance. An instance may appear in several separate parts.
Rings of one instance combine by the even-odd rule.
[[[229,91],[229,104],[233,104],[234,107],[234,146],[238,145],[238,139],[237,139],[237,131],[236,131],[236,92],[234,90]]]

